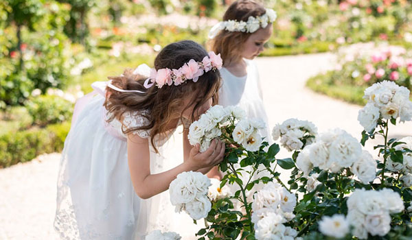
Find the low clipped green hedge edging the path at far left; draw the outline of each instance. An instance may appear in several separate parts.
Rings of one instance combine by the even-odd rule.
[[[39,154],[60,152],[70,130],[70,122],[7,132],[0,136],[0,168],[25,163]]]

